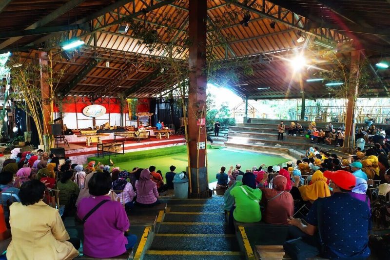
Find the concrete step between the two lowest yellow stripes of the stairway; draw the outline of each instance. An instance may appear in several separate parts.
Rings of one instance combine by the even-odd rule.
[[[234,234],[156,234],[149,250],[239,252],[240,248]]]

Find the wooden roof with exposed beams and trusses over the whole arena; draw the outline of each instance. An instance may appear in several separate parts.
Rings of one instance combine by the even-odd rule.
[[[328,97],[323,83],[305,82],[310,72],[302,76],[303,84],[292,79],[286,61],[304,50],[314,65],[329,67],[321,60],[327,45],[352,46],[369,57],[379,83],[370,86],[367,96],[389,95],[390,71],[374,68],[376,62],[390,62],[389,0],[208,0],[207,4],[209,33],[224,12],[240,13],[233,23],[222,26],[214,49],[215,62],[245,60],[253,68],[251,76],[237,72],[242,74],[239,81],[228,86],[237,95],[282,99],[300,98],[305,92],[307,98]],[[246,27],[241,20],[248,13],[251,20]],[[159,96],[169,86],[161,69],[147,64],[167,54],[139,44],[131,30],[119,33],[118,27],[128,20],[159,24],[156,33],[167,41],[176,40],[176,48],[181,48],[188,30],[188,0],[2,0],[0,53],[11,51],[21,62],[29,62],[38,50],[78,38],[85,45],[54,67],[66,69],[59,94]],[[167,34],[166,29],[175,33]],[[304,42],[297,42],[300,36]],[[184,48],[176,58],[185,55]]]

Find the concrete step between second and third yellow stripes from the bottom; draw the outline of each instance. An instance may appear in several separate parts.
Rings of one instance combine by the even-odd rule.
[[[213,225],[199,223],[161,222],[159,234],[230,234],[227,223],[213,223]]]

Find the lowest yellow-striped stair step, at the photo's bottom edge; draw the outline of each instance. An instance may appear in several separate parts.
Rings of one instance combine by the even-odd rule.
[[[236,251],[146,251],[145,260],[244,260],[245,257]]]

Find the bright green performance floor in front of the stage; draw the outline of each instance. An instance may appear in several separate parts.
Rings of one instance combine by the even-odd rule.
[[[286,161],[288,159],[271,154],[262,154],[255,152],[247,152],[241,150],[234,150],[230,148],[223,148],[210,145],[207,149],[208,159],[208,172],[209,182],[216,181],[215,174],[220,170],[221,166],[226,167],[226,173],[231,165],[236,163],[241,164],[241,170],[245,172],[246,169],[252,169],[253,166],[259,166],[264,163],[265,165],[276,165]],[[131,171],[134,167],[149,168],[151,165],[155,165],[157,170],[161,170],[163,175],[169,172],[169,166],[175,165],[176,172],[185,171],[187,167],[187,147],[185,145],[172,146],[166,148],[158,148],[152,150],[138,151],[126,153],[123,155],[111,156],[111,160],[114,161],[115,167],[119,167],[120,170]],[[109,157],[104,158],[90,157],[88,161],[95,160],[96,163],[101,162],[103,164],[109,164]]]

